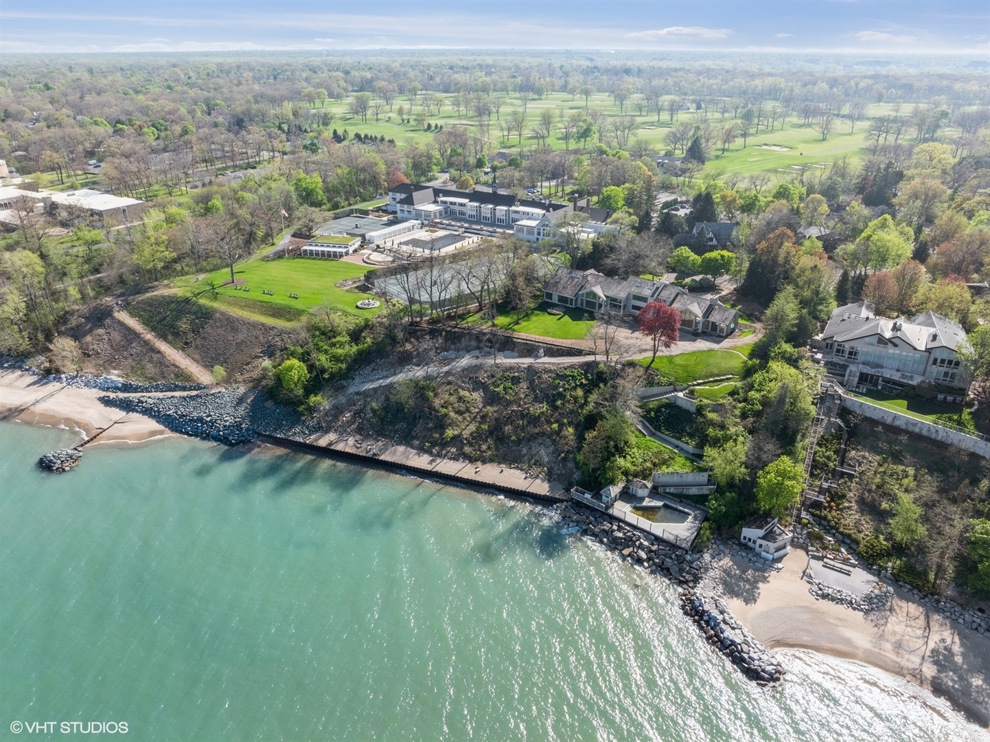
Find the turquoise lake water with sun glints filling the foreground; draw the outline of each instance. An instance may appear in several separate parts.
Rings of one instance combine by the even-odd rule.
[[[810,652],[756,687],[527,503],[177,438],[37,469],[73,441],[0,424],[0,739],[983,738]]]

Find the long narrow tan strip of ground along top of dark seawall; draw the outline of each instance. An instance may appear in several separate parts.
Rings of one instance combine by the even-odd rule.
[[[351,438],[328,433],[311,438],[303,448],[324,450],[348,459],[383,464],[420,476],[449,479],[468,486],[498,489],[543,500],[569,499],[563,485],[497,464],[451,461],[376,438]]]

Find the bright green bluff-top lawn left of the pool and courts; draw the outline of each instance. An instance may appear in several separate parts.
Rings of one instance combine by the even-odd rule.
[[[195,295],[201,301],[218,304],[224,309],[263,321],[291,322],[313,307],[321,305],[339,307],[343,311],[362,316],[381,311],[381,307],[357,309],[355,305],[358,301],[374,297],[371,294],[347,291],[335,285],[345,278],[363,275],[366,270],[364,265],[347,261],[305,258],[262,261],[256,258],[235,266],[235,276],[246,281],[241,288],[219,285],[231,279],[227,268],[210,273],[199,281],[185,276],[175,283],[183,288],[184,293]],[[215,285],[213,290],[209,289],[211,281]],[[250,290],[245,291],[244,287]],[[274,291],[274,295],[263,294],[262,290]],[[299,298],[291,298],[290,293],[299,294]]]

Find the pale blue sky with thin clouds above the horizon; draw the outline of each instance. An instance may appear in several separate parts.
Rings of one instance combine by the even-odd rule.
[[[990,0],[0,0],[0,53],[354,49],[990,56]]]

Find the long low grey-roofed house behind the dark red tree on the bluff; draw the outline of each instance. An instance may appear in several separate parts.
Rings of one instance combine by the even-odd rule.
[[[692,295],[662,280],[631,276],[610,278],[597,270],[559,267],[544,286],[546,301],[597,312],[611,306],[637,315],[651,301],[672,306],[681,315],[681,330],[699,335],[727,337],[739,328],[739,312],[722,302]]]

